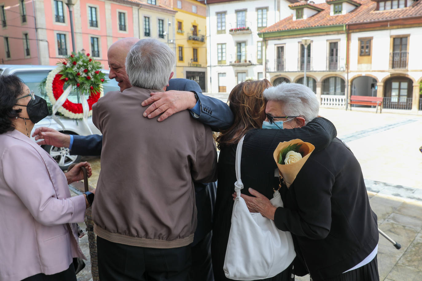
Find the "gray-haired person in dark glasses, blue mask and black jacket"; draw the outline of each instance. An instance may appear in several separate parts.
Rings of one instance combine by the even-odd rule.
[[[318,115],[315,94],[301,84],[281,83],[266,89],[264,97],[268,100],[265,128],[300,128]],[[249,146],[255,142],[265,147],[266,141],[250,136]],[[243,153],[251,152],[246,147]],[[257,160],[261,161],[274,160]],[[296,275],[309,273],[314,281],[379,280],[377,217],[349,147],[334,139],[325,149],[314,151],[292,185],[280,191],[284,208],[276,208],[252,189],[249,192],[255,197],[241,196],[250,211],[260,212],[280,230],[292,233]]]

